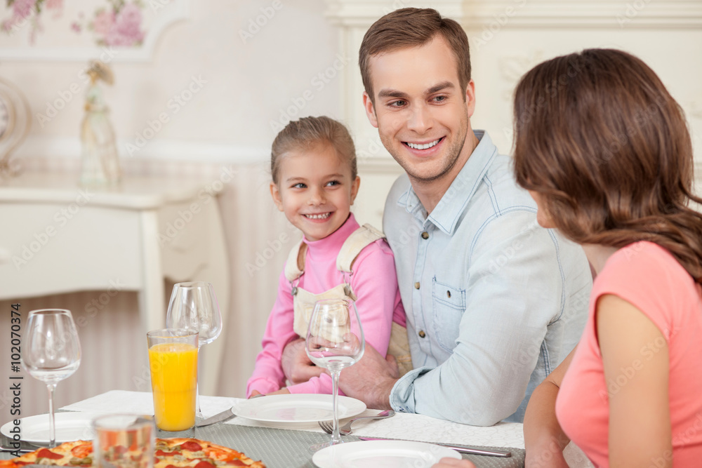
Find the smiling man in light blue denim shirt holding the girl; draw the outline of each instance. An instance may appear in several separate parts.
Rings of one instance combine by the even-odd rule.
[[[465,424],[521,422],[531,392],[574,347],[592,286],[581,248],[538,226],[508,156],[472,131],[468,38],[431,9],[366,32],[363,102],[406,175],[385,203],[414,369],[375,349],[340,388],[371,408]],[[292,348],[292,347],[291,347]]]

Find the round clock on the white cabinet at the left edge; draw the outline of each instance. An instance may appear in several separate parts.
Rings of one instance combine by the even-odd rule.
[[[31,126],[27,98],[13,83],[0,78],[0,176],[17,172],[10,159],[27,138]]]

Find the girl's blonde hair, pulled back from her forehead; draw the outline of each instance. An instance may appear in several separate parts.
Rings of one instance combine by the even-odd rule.
[[[270,173],[274,183],[278,183],[280,159],[291,151],[305,151],[317,145],[331,145],[339,158],[351,168],[351,180],[358,175],[356,167],[356,147],[353,138],[343,123],[327,116],[303,117],[291,121],[273,140],[270,152]]]

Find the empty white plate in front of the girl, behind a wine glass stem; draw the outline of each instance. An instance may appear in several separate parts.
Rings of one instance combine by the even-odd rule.
[[[363,413],[366,403],[348,396],[339,396],[339,419]],[[268,426],[317,424],[333,419],[331,395],[290,394],[260,396],[240,401],[232,411],[235,415],[263,422]]]

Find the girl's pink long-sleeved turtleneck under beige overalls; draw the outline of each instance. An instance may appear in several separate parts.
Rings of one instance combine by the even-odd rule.
[[[354,215],[319,241],[307,241],[305,273],[300,276],[298,287],[319,294],[344,282],[336,269],[336,257],[348,236],[359,228]],[[397,288],[395,260],[384,239],[371,243],[359,253],[353,264],[350,286],[355,293],[356,307],[361,316],[366,345],[371,345],[385,356],[390,342],[390,330],[395,321],[405,326],[405,314]],[[263,394],[275,392],[285,386],[285,375],[280,359],[285,345],[298,338],[293,331],[293,295],[284,272],[278,282],[278,297],[268,317],[263,335],[263,351],[256,357],[256,367],[246,385],[246,396],[253,390]],[[291,385],[293,394],[331,394],[331,377],[322,374],[307,382]]]

